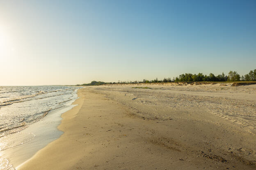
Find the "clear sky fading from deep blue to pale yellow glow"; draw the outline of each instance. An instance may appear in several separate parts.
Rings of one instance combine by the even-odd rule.
[[[0,85],[256,69],[255,0],[0,0]]]

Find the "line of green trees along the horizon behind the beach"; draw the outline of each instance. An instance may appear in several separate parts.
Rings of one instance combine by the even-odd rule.
[[[213,73],[210,73],[209,75],[203,75],[202,73],[198,73],[198,74],[185,73],[172,79],[164,78],[163,80],[158,80],[158,78],[155,78],[155,80],[144,79],[143,81],[118,81],[117,83],[116,82],[105,83],[101,81],[92,81],[89,84],[82,84],[82,85],[103,85],[103,84],[118,84],[118,83],[123,84],[123,83],[199,82],[199,81],[215,81],[215,82],[256,81],[256,69],[251,70],[248,74],[245,74],[244,76],[240,76],[235,71],[230,71],[228,75],[225,75],[222,72],[222,74],[219,74],[217,76],[215,76]]]

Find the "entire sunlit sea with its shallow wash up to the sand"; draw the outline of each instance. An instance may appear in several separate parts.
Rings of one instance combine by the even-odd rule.
[[[62,134],[57,130],[61,114],[74,107],[72,103],[78,98],[79,88],[0,86],[0,170],[15,170],[9,159],[29,159]]]

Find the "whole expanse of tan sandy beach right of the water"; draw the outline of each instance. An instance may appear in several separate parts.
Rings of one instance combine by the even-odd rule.
[[[256,169],[256,85],[112,85],[78,96],[64,134],[18,170]]]

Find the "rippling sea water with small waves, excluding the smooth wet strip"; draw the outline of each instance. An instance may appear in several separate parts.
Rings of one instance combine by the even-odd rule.
[[[0,151],[31,141],[35,134],[19,135],[47,114],[71,105],[77,98],[75,86],[0,86]],[[17,136],[17,135],[16,135]],[[8,160],[0,158],[0,169]]]

